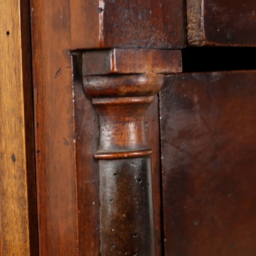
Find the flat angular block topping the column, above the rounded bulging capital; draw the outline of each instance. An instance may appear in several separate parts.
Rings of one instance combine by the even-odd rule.
[[[175,50],[109,49],[87,51],[82,57],[83,73],[86,76],[141,74],[147,71],[162,74],[181,72],[180,51]]]

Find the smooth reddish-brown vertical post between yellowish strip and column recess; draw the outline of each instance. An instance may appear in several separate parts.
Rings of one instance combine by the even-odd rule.
[[[31,1],[40,255],[77,255],[69,1]]]

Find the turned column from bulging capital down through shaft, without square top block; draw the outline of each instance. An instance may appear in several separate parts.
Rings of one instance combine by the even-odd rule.
[[[152,172],[147,158],[152,150],[145,137],[145,111],[154,100],[152,93],[160,90],[163,77],[143,76],[84,79],[87,95],[94,96],[92,104],[100,124],[95,158],[100,160],[101,255],[155,255]],[[115,91],[119,84],[122,89]]]

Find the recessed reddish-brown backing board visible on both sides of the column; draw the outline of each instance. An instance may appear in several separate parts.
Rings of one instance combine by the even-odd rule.
[[[79,252],[97,255],[99,248],[98,164],[94,152],[99,145],[97,113],[82,89],[81,54],[73,56],[74,105],[76,122],[76,172],[79,222]],[[97,84],[94,84],[96,86]],[[90,91],[92,93],[92,91]],[[150,94],[150,93],[149,93]],[[152,94],[152,92],[151,92]],[[97,94],[96,94],[97,95]],[[160,165],[158,98],[145,113],[145,133],[152,149],[152,185],[154,197],[155,250],[161,255],[160,227]]]

